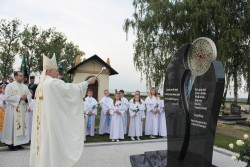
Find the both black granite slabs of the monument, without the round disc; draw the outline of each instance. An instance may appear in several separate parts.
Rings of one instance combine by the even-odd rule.
[[[222,63],[215,60],[205,74],[193,76],[187,63],[190,46],[185,44],[178,49],[165,76],[168,167],[212,166],[225,74]]]

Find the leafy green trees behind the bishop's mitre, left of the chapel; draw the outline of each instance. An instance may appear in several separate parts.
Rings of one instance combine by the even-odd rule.
[[[57,32],[54,28],[47,30],[38,29],[37,26],[26,25],[21,33],[21,55],[27,55],[27,64],[29,71],[41,72],[43,70],[42,55],[52,57],[56,55],[60,64],[64,61],[62,73],[65,80],[70,82],[72,78],[66,73],[67,69],[74,65],[76,55],[84,55],[73,42],[67,42],[63,33]]]

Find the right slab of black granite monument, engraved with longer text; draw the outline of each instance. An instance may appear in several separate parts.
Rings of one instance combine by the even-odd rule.
[[[190,136],[184,162],[194,166],[212,165],[215,131],[224,91],[222,63],[196,77],[189,100]]]

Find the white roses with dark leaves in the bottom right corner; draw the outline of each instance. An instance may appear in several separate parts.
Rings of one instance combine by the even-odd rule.
[[[248,134],[244,134],[244,141],[243,140],[237,140],[236,141],[236,145],[241,147],[240,151],[239,151],[239,156],[232,156],[231,159],[234,161],[244,161],[247,163],[246,167],[250,167],[250,143],[249,141],[247,141],[247,139],[249,138]],[[234,148],[234,144],[230,143],[229,144],[229,148],[233,149]]]

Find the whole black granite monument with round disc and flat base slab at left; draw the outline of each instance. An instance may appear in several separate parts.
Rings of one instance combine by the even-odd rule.
[[[215,130],[224,90],[216,47],[198,38],[178,49],[164,83],[167,149],[131,156],[133,167],[212,167]]]

